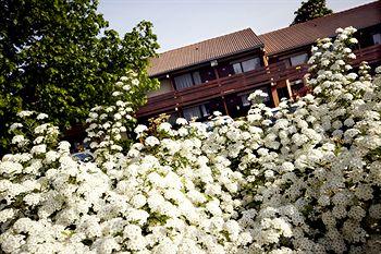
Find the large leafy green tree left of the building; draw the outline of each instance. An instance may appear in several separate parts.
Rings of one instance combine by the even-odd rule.
[[[90,108],[113,102],[111,87],[127,70],[140,81],[132,107],[145,102],[157,85],[146,73],[158,49],[152,26],[143,21],[122,38],[97,7],[97,0],[0,0],[0,147],[21,109],[46,112],[61,129],[83,123]]]

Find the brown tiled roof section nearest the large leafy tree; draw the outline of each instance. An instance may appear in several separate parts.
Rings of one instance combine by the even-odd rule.
[[[243,29],[160,53],[150,60],[148,74],[155,76],[194,64],[243,52],[263,44],[250,29]]]

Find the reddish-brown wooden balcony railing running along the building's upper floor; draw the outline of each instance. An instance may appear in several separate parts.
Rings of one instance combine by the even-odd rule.
[[[357,58],[351,62],[354,66],[359,65],[362,61],[373,63],[381,60],[381,45],[358,49],[354,51],[354,53],[357,56]],[[273,63],[255,71],[157,95],[148,99],[147,105],[139,109],[137,116],[144,117],[158,112],[171,111],[179,106],[184,107],[201,102],[211,98],[255,88],[263,84],[276,83],[285,80],[299,80],[308,72],[308,64],[287,68],[284,62]]]

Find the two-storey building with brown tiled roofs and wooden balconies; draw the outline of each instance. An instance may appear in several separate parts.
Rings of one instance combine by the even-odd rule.
[[[160,88],[148,95],[137,117],[146,121],[168,113],[170,121],[179,117],[202,121],[218,110],[236,118],[247,112],[247,97],[256,89],[269,94],[265,102],[276,107],[282,97],[304,92],[315,41],[347,26],[358,29],[357,59],[352,64],[380,64],[381,1],[259,36],[246,28],[151,59],[148,73],[160,81]]]

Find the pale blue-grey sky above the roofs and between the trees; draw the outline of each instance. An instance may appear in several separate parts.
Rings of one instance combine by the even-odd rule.
[[[327,0],[334,12],[374,0]],[[124,35],[153,24],[159,52],[250,27],[257,35],[288,26],[302,0],[100,0],[110,28]]]

